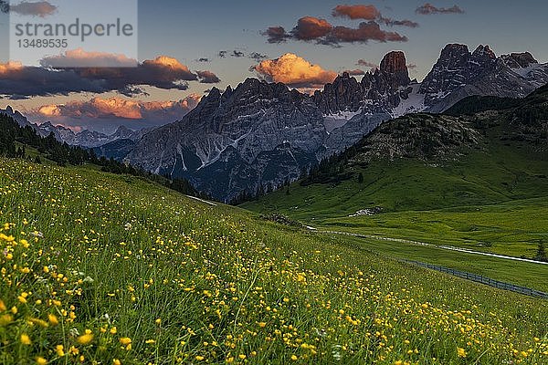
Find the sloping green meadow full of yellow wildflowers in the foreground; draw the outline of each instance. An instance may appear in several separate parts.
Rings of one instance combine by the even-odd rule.
[[[142,178],[0,160],[0,211],[4,364],[548,356],[545,301]]]

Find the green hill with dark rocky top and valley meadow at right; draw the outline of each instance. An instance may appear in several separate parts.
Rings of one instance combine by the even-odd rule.
[[[539,284],[544,266],[524,269],[401,240],[545,260],[547,100],[543,88],[510,104],[470,98],[455,107],[475,114],[388,121],[306,179],[241,206],[319,230],[380,236],[361,245],[381,255],[546,290]]]

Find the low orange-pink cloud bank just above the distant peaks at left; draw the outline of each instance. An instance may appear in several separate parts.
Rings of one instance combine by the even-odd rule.
[[[178,101],[142,101],[93,98],[66,104],[43,105],[28,114],[37,121],[51,120],[70,128],[100,130],[105,125],[132,123],[134,128],[163,125],[180,120],[193,110],[202,96],[191,94]]]

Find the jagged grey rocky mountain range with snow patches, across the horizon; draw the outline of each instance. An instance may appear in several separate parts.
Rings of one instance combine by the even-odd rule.
[[[520,99],[546,83],[548,64],[530,53],[497,57],[489,46],[470,52],[450,44],[422,82],[409,78],[405,54],[394,51],[360,81],[345,72],[312,95],[257,78],[213,88],[182,120],[155,130],[106,136],[38,128],[230,201],[299,178],[385,120],[442,112],[473,95]]]

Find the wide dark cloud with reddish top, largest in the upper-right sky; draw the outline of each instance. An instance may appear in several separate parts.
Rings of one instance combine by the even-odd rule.
[[[279,27],[281,28],[281,27]],[[269,28],[270,29],[270,28]],[[285,32],[285,31],[284,31]],[[371,40],[377,42],[406,42],[406,36],[397,32],[389,32],[381,29],[381,26],[375,21],[362,22],[357,28],[348,26],[332,26],[325,19],[313,16],[301,17],[297,26],[290,33],[276,36],[269,35],[269,31],[264,32],[269,36],[269,43],[284,42],[289,38],[300,41],[315,41],[317,44],[339,46],[340,43],[367,43]]]

